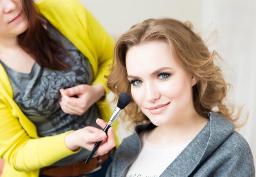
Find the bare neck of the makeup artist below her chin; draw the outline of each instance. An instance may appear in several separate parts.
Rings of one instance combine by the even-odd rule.
[[[18,37],[0,37],[0,53],[19,48]]]

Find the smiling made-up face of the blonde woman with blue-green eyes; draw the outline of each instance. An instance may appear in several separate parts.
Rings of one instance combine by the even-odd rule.
[[[193,109],[193,78],[167,42],[132,46],[126,53],[126,69],[132,98],[153,124],[180,121]]]

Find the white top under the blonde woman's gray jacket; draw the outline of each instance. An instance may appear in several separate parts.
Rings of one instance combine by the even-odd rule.
[[[152,144],[146,140],[146,133],[143,133],[141,152],[131,164],[126,177],[159,177],[189,142]]]

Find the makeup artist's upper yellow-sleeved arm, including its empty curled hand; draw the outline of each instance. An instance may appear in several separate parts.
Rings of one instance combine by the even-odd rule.
[[[66,97],[67,101],[63,99],[61,104],[65,113],[81,115],[108,93],[104,76],[109,74],[115,42],[90,11],[77,0],[41,1],[38,7],[47,20],[88,57],[92,66],[92,86],[99,89],[85,84],[79,85],[79,89],[66,89],[70,92],[66,96],[78,95],[81,99]]]

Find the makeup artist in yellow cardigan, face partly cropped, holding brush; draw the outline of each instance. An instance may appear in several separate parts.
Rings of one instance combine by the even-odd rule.
[[[77,0],[0,1],[2,177],[106,174],[116,127],[102,132],[112,114],[103,76],[113,46]]]

